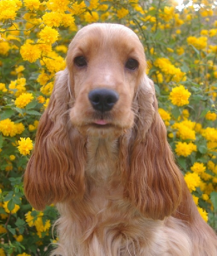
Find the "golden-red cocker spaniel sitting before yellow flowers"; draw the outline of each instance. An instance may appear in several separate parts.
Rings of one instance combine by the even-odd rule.
[[[69,45],[24,175],[32,206],[60,213],[52,255],[217,256],[145,68],[122,25],[88,25]]]

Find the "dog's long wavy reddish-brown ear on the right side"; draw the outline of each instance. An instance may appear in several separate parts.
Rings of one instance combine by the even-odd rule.
[[[120,140],[124,195],[147,218],[163,219],[180,203],[183,177],[167,142],[153,82],[146,75],[134,104],[134,128]]]

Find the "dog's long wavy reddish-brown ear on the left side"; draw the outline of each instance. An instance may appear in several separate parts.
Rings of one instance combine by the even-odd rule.
[[[69,120],[74,103],[69,88],[68,70],[58,72],[24,174],[26,198],[38,210],[84,194],[85,140]]]

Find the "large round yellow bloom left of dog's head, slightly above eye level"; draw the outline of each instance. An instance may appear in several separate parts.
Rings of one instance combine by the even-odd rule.
[[[38,45],[26,43],[20,47],[20,54],[24,61],[29,61],[32,63],[40,58],[41,50],[39,49]]]

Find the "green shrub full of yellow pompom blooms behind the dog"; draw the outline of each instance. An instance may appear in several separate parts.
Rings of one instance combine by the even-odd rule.
[[[0,256],[42,255],[58,241],[55,208],[32,209],[22,174],[67,46],[93,22],[122,23],[142,41],[169,143],[200,214],[217,229],[217,6],[191,3],[0,1]]]

